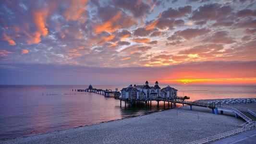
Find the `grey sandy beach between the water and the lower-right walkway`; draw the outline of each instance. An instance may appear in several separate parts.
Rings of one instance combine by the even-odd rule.
[[[0,144],[181,144],[237,129],[242,123],[244,121],[235,119],[233,114],[215,115],[211,109],[199,107],[190,111],[184,106],[129,119],[8,139]]]

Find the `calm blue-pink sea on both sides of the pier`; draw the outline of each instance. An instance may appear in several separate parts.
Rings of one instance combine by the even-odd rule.
[[[124,87],[93,86],[112,90]],[[256,97],[256,86],[171,86],[179,90],[178,96],[190,96],[191,100]],[[82,88],[87,85],[0,85],[0,139],[69,129],[167,108],[162,103],[159,108],[156,103],[152,103],[152,108],[124,108],[122,103],[121,108],[120,101],[113,97],[72,91]]]

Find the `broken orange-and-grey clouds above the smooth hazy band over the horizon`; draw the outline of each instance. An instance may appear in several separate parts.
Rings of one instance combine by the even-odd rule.
[[[0,64],[139,68],[254,61],[256,3],[2,0],[0,33]]]

